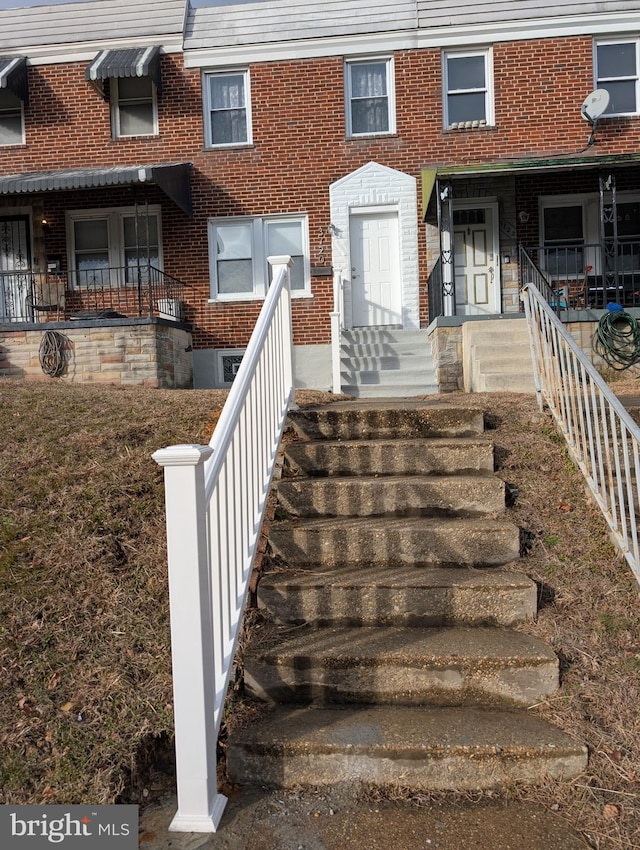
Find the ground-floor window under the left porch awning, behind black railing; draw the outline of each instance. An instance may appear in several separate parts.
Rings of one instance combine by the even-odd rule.
[[[162,270],[159,206],[70,212],[67,233],[72,283],[133,285]]]

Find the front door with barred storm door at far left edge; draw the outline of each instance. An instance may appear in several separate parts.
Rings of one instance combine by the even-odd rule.
[[[29,242],[27,216],[0,216],[0,318],[3,321],[30,319]]]

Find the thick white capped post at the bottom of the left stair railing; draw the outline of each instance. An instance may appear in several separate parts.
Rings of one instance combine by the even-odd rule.
[[[154,452],[164,468],[169,564],[178,812],[169,827],[215,832],[227,802],[218,793],[217,729],[204,462],[209,446]]]

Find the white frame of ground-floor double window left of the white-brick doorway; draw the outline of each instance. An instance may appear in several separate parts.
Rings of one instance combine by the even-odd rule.
[[[267,261],[267,229],[269,224],[295,222],[301,226],[301,238],[304,263],[304,288],[291,291],[292,298],[311,296],[311,261],[309,257],[309,221],[304,214],[283,214],[266,216],[242,216],[210,218],[208,222],[210,301],[259,301],[269,289],[271,269]],[[218,250],[217,229],[225,225],[249,225],[251,228],[251,261],[253,288],[251,292],[218,292]]]

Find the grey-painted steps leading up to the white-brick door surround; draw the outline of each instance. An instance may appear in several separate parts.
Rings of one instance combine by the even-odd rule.
[[[355,398],[402,398],[438,392],[424,330],[390,327],[342,332],[342,392]]]

